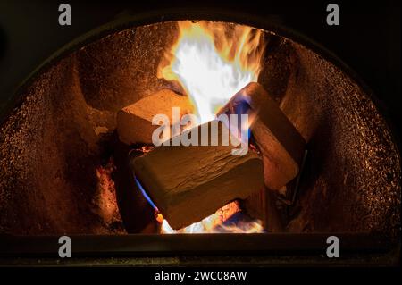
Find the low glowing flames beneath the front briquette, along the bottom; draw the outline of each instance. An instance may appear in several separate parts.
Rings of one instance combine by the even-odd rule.
[[[259,220],[251,222],[232,222],[229,225],[225,225],[225,222],[230,220],[234,214],[240,213],[241,209],[237,202],[230,202],[228,205],[224,205],[221,209],[216,211],[214,214],[206,217],[201,222],[195,222],[186,228],[174,231],[169,222],[166,219],[158,220],[162,223],[161,233],[172,234],[172,233],[258,233],[264,232],[262,222]],[[160,214],[158,217],[160,218]]]

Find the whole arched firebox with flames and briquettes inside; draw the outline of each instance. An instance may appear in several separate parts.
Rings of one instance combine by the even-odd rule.
[[[244,136],[173,146],[212,122]],[[56,256],[61,235],[81,256],[316,254],[329,236],[373,254],[400,242],[400,155],[372,92],[267,21],[172,13],[90,32],[21,84],[0,154],[4,256]]]

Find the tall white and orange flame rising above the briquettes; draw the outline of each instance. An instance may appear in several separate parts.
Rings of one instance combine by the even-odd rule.
[[[179,38],[164,54],[158,77],[180,83],[198,123],[211,121],[230,97],[257,81],[264,54],[261,30],[217,22],[179,21]]]

